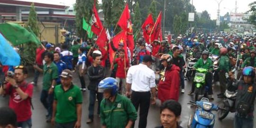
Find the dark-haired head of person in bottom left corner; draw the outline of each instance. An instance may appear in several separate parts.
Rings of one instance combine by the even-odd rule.
[[[0,128],[17,128],[15,111],[8,107],[0,108]]]

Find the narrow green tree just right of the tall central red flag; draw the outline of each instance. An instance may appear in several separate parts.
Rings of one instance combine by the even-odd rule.
[[[133,16],[133,28],[136,32],[141,26],[141,14],[138,2],[136,3]]]

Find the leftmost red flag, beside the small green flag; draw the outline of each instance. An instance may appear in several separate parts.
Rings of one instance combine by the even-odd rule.
[[[91,31],[97,36],[99,36],[102,29],[103,29],[103,26],[102,26],[100,17],[98,15],[96,6],[94,4],[92,9],[92,15],[91,15]]]

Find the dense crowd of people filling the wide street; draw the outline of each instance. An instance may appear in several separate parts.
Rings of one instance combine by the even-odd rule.
[[[0,94],[10,95],[9,108],[12,110],[0,109],[0,116],[10,118],[1,118],[0,127],[32,127],[33,88],[40,85],[37,81],[43,73],[40,101],[47,111],[46,122],[51,122],[55,128],[81,128],[82,91],[87,89],[87,124],[94,120],[97,101],[102,128],[134,128],[137,115],[138,128],[146,128],[150,104],[159,99],[162,126],[157,128],[182,128],[179,126],[181,104],[178,101],[180,93],[185,93],[184,88],[188,87],[184,82],[186,57],[192,57],[197,60],[194,69],[208,71],[205,88],[209,98],[214,100],[212,83],[219,81],[218,98],[225,97],[224,92],[229,86],[234,87],[238,91],[234,127],[253,128],[256,37],[197,33],[152,43],[139,38],[133,51],[124,47],[123,42],[115,47],[110,40],[107,46],[115,51],[111,63],[108,52],[100,51],[94,41],[75,38],[73,43],[65,42],[60,47],[42,42],[36,50],[34,80],[30,83],[26,81],[27,68],[22,65],[9,67],[9,71],[2,70],[6,79],[0,87]],[[210,58],[212,55],[218,56],[216,69]],[[232,68],[238,72],[230,72]],[[74,73],[78,73],[80,86],[73,84]],[[226,77],[227,73],[229,77]],[[86,75],[90,80],[88,85]],[[192,82],[188,94],[192,95],[194,90],[195,83]]]

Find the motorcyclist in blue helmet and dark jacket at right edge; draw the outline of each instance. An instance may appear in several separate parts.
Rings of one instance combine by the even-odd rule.
[[[229,73],[230,82],[238,90],[235,101],[236,114],[234,128],[253,128],[254,100],[256,97],[255,69],[245,67],[243,69],[243,80],[235,80],[235,76]]]

